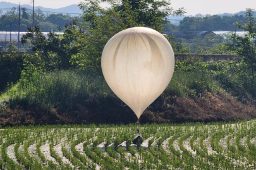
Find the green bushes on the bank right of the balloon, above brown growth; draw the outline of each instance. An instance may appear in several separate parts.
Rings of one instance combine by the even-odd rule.
[[[195,90],[197,95],[201,95],[205,91],[216,93],[222,89],[238,98],[252,99],[252,96],[256,95],[255,90],[250,86],[252,81],[248,76],[250,71],[247,69],[247,64],[241,59],[219,60],[218,62],[178,60],[176,63],[178,64],[176,72],[180,71],[186,74],[187,77],[184,80],[190,82],[183,82],[183,84],[190,84],[189,88]],[[180,90],[175,89],[175,91]]]

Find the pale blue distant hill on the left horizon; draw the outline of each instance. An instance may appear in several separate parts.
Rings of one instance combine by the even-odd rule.
[[[13,7],[17,7],[18,4],[0,2],[0,10],[2,9],[3,13],[6,13],[6,9],[11,9]],[[21,8],[33,9],[32,5],[24,4],[21,5]],[[77,4],[72,4],[70,6],[66,6],[63,8],[53,9],[53,8],[44,8],[42,6],[35,6],[35,9],[39,8],[40,10],[47,13],[69,13],[71,16],[77,16],[78,14],[82,14],[82,10],[78,7]]]

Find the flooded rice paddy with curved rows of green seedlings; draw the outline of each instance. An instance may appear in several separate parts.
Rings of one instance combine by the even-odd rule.
[[[0,130],[0,169],[256,169],[256,120]]]

